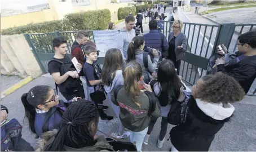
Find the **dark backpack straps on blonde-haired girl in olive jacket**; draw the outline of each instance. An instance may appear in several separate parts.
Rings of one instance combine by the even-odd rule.
[[[114,93],[113,93],[114,99],[117,99],[117,94],[121,90],[122,87],[123,87],[122,85],[118,85],[118,86],[114,87]],[[148,116],[152,117],[152,113],[156,109],[157,97],[155,96],[155,93],[152,93],[149,91],[144,91],[144,93],[145,93],[145,95],[148,96],[148,99],[149,99]]]

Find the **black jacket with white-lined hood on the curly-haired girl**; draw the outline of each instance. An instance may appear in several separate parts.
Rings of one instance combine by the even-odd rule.
[[[174,102],[167,115],[168,122],[177,125],[171,129],[170,138],[178,151],[208,151],[215,134],[235,110],[231,104],[226,104],[223,108],[222,104],[205,104],[191,96],[187,102],[186,122],[181,123],[181,104]]]

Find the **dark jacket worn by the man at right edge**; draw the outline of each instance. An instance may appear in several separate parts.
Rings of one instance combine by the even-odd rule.
[[[236,52],[236,56],[240,55],[241,53]],[[217,67],[218,71],[222,71],[235,78],[241,87],[244,88],[245,93],[248,93],[251,84],[253,84],[256,78],[256,55],[248,56],[232,66],[224,67],[224,64],[219,64]]]

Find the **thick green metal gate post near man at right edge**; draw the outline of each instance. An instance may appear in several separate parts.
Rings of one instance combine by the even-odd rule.
[[[228,49],[229,44],[231,43],[233,34],[235,32],[235,29],[236,29],[235,23],[223,23],[220,29],[217,46],[219,44],[224,44]]]

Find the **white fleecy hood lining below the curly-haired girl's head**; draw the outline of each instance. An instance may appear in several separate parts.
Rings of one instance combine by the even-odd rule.
[[[196,99],[196,104],[203,113],[215,120],[224,120],[226,118],[229,118],[235,111],[234,106],[229,103],[211,103]]]

